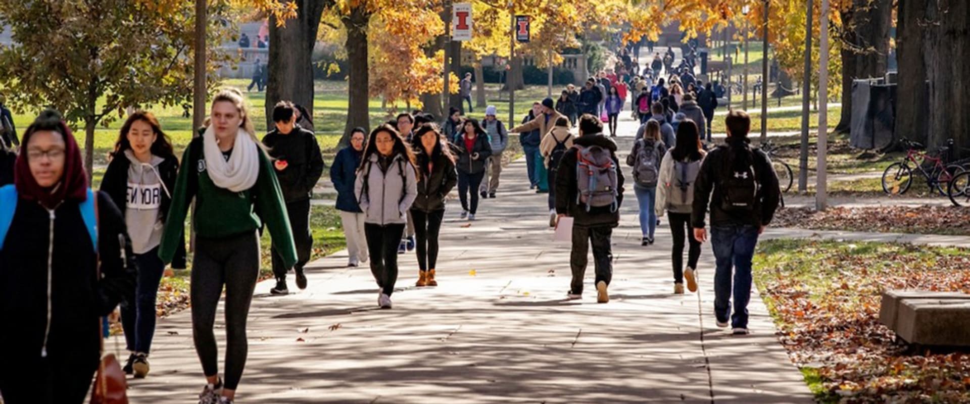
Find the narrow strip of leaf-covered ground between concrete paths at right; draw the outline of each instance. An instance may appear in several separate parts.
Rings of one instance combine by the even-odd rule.
[[[849,232],[970,235],[970,207],[872,206],[808,207],[778,210],[772,227]]]

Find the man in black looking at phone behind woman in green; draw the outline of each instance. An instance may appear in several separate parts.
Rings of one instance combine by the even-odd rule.
[[[286,212],[293,230],[293,242],[297,249],[297,287],[307,289],[307,275],[303,267],[309,262],[313,236],[309,231],[309,200],[313,187],[323,173],[323,155],[316,136],[296,124],[296,107],[289,101],[280,101],[273,108],[276,129],[263,138],[274,160],[276,178],[286,201]],[[275,244],[275,243],[274,243]],[[273,273],[276,286],[270,290],[274,295],[286,295],[286,271],[282,257],[273,248]]]

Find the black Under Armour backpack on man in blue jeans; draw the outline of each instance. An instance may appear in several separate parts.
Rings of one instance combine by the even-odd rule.
[[[750,145],[723,148],[723,170],[718,186],[721,208],[727,212],[752,212],[758,203],[760,184],[755,170],[755,153]]]

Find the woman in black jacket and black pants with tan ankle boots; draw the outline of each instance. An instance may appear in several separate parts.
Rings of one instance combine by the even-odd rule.
[[[455,156],[436,125],[422,125],[414,138],[418,194],[410,212],[418,237],[418,281],[415,286],[437,286],[437,234],[444,219],[444,199],[458,183],[458,174],[455,172]]]

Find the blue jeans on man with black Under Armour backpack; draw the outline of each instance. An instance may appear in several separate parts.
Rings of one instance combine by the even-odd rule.
[[[732,327],[748,326],[751,299],[751,259],[758,244],[758,227],[751,225],[711,226],[711,245],[717,269],[714,272],[714,315],[727,323],[730,313],[731,269],[733,268],[734,313]]]

